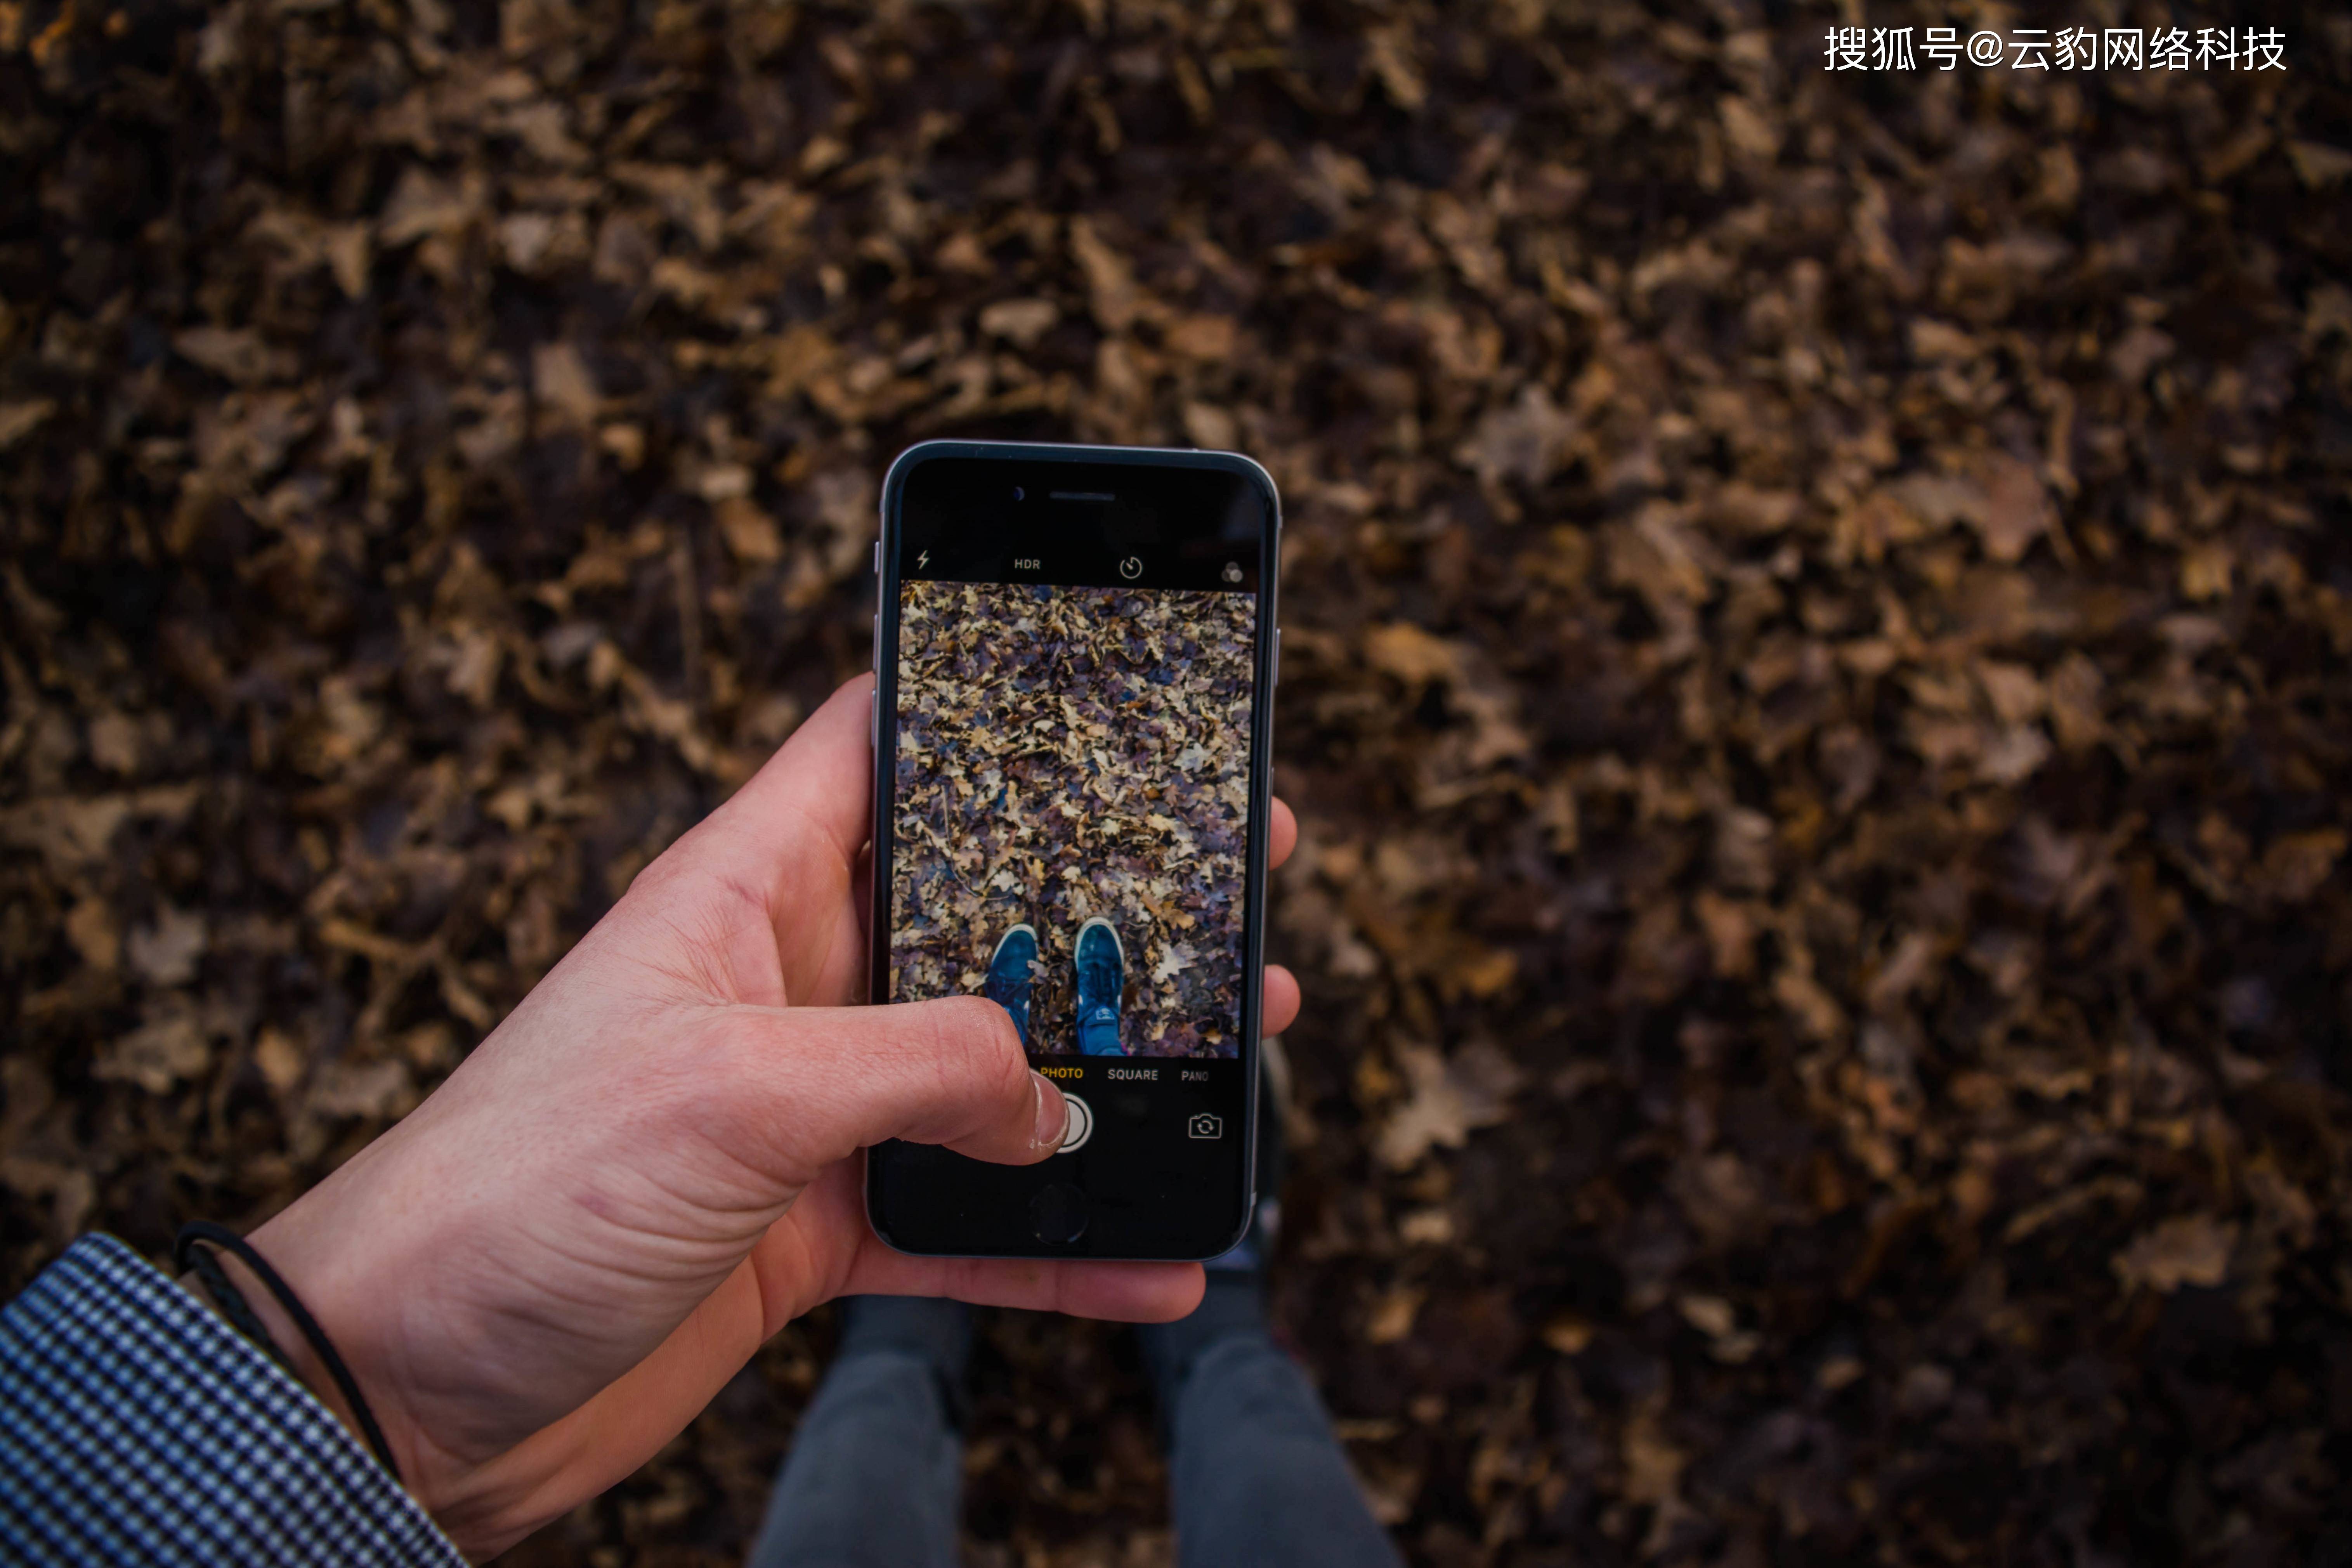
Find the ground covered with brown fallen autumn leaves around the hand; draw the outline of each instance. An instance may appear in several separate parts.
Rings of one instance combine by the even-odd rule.
[[[1277,1316],[1416,1563],[2340,1561],[2352,24],[0,0],[0,1246],[249,1222],[866,665],[924,435],[1289,517]],[[2145,24],[1872,5],[1872,26]],[[524,1563],[729,1563],[828,1319]],[[1167,1559],[988,1319],[976,1563]]]

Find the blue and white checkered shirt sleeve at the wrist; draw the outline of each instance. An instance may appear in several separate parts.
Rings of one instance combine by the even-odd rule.
[[[82,1237],[0,1312],[0,1561],[466,1559],[259,1347]]]

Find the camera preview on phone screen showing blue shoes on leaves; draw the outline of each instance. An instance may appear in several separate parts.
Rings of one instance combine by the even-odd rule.
[[[1240,1056],[1256,597],[906,583],[891,1001]]]

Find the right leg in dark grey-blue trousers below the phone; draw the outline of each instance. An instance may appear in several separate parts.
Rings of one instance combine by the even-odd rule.
[[[1169,1406],[1181,1568],[1402,1563],[1305,1373],[1265,1331],[1254,1279],[1211,1274],[1202,1309],[1143,1347]]]

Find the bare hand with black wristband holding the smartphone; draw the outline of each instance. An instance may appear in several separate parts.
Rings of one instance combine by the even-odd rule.
[[[252,1237],[473,1556],[637,1469],[835,1295],[1131,1321],[1200,1302],[1192,1262],[908,1258],[868,1227],[863,1147],[1030,1164],[1065,1117],[993,1001],[847,1006],[866,985],[870,693],[837,691],[423,1105]],[[1270,860],[1296,837],[1275,802]],[[1298,1013],[1282,969],[1263,1013],[1268,1032]]]

